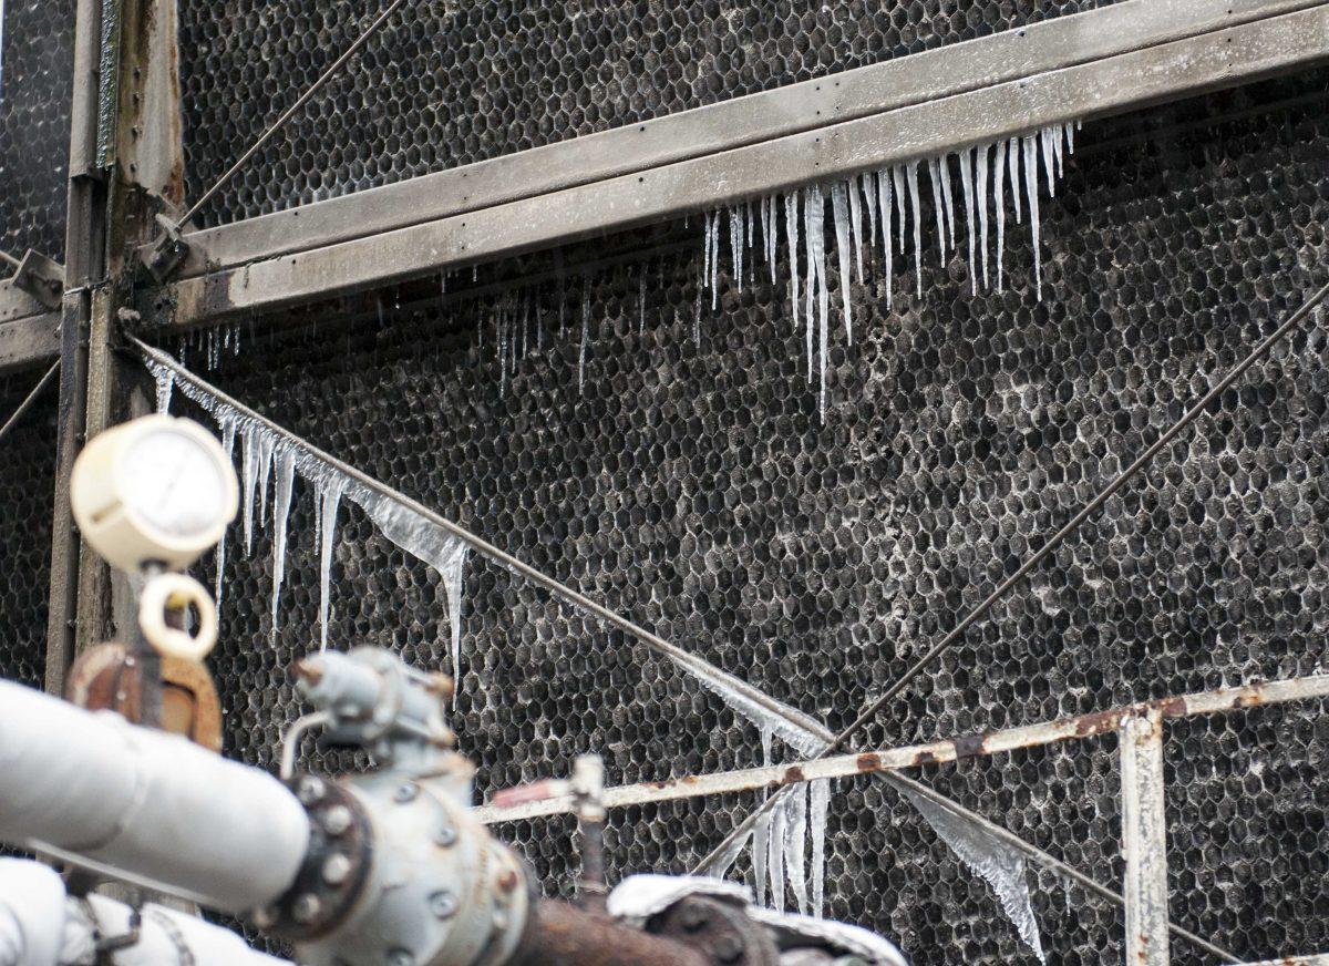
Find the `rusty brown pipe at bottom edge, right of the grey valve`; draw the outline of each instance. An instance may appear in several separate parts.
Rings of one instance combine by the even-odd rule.
[[[540,902],[510,966],[711,966],[699,949],[565,902]]]

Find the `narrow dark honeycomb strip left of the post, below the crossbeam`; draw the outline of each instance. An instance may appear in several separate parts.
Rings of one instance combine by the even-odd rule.
[[[0,425],[40,373],[0,376]],[[51,508],[54,501],[54,388],[0,440],[0,678],[41,687],[47,670],[51,594]]]

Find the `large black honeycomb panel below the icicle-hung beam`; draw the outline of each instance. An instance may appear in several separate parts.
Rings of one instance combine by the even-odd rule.
[[[836,320],[824,423],[783,282],[758,272],[742,292],[728,283],[720,310],[695,322],[696,219],[466,270],[445,296],[437,280],[428,298],[388,290],[367,314],[323,314],[316,327],[255,335],[246,324],[219,338],[210,373],[197,339],[187,357],[316,445],[841,727],[1329,280],[1326,78],[1086,124],[1045,202],[1045,299],[1014,230],[1005,294],[974,296],[958,260],[925,259],[920,302],[900,260],[888,311],[878,267],[853,286],[852,347]],[[520,360],[504,372],[498,351],[514,339]],[[1308,326],[1259,363],[860,745],[1322,668],[1326,353],[1324,330]],[[229,747],[267,765],[299,712],[284,668],[318,642],[312,510],[298,482],[275,640],[270,534],[246,555],[231,533],[214,664]],[[343,506],[332,578],[334,646],[381,644],[449,666],[437,574],[355,508]],[[474,557],[462,626],[453,720],[478,760],[481,795],[566,775],[586,751],[605,756],[613,783],[760,759],[756,729],[696,680]],[[1312,711],[1280,714],[1298,722]],[[1308,733],[1322,725],[1276,732],[1281,751],[1259,718],[1221,727],[1251,749],[1240,755],[1293,756],[1278,772],[1280,803],[1322,801],[1301,764],[1320,753]],[[1321,926],[1300,910],[1317,908],[1320,886],[1284,882],[1300,866],[1251,865],[1271,876],[1263,890],[1200,878],[1220,861],[1211,842],[1241,826],[1228,832],[1225,811],[1187,804],[1212,801],[1219,785],[1195,785],[1207,775],[1177,764],[1176,741],[1183,759],[1207,749],[1203,731],[1187,732],[1192,741],[1177,728],[1177,917],[1252,958],[1316,951]],[[920,777],[1119,886],[1115,748],[1104,736]],[[684,869],[744,808],[715,800],[615,815],[613,878]],[[1297,841],[1320,861],[1329,842],[1305,813]],[[577,868],[569,832],[567,820],[498,826],[554,894]],[[897,939],[914,962],[1034,962],[989,885],[880,783],[837,788],[827,856],[829,913]],[[744,858],[735,874],[748,869]],[[1050,962],[1122,961],[1112,906],[1078,889],[1067,897],[1043,872],[1027,881]],[[1278,900],[1284,892],[1292,898]],[[1174,957],[1209,962],[1181,941]]]

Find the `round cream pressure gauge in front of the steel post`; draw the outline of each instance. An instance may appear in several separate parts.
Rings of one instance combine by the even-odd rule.
[[[145,416],[97,436],[74,462],[74,520],[106,561],[182,570],[235,518],[235,469],[197,423]]]

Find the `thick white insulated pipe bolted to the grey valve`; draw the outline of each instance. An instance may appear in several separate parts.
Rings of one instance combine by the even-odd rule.
[[[0,841],[245,913],[295,881],[308,837],[266,772],[0,682]]]

